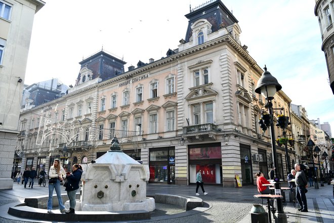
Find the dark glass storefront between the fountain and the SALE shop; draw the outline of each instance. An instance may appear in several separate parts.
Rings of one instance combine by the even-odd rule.
[[[175,183],[175,147],[149,149],[149,182]]]

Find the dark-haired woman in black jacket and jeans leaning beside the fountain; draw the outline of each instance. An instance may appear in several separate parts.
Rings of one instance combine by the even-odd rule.
[[[79,182],[82,175],[82,167],[79,164],[74,164],[72,166],[72,173],[66,174],[66,189],[67,196],[70,203],[70,209],[66,212],[66,214],[74,214],[74,208],[75,208],[75,194],[76,191],[79,189]]]

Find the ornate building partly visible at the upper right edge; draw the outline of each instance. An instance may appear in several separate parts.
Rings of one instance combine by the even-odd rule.
[[[314,14],[318,17],[321,32],[321,50],[325,54],[330,88],[334,94],[334,2],[316,0]]]

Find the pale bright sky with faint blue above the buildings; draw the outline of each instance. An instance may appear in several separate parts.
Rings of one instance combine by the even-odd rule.
[[[52,78],[75,84],[83,58],[103,49],[127,62],[125,70],[177,49],[185,39],[189,5],[206,0],[44,0],[35,14],[25,84]],[[334,137],[334,95],[329,87],[314,0],[222,0],[239,21],[241,45],[278,80],[309,120],[329,122]]]

